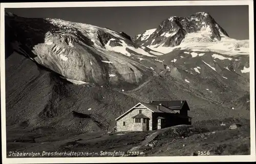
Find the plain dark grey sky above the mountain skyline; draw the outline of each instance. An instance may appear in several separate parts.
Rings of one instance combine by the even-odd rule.
[[[6,9],[23,17],[59,18],[110,28],[131,37],[156,29],[170,16],[185,17],[208,12],[234,39],[249,39],[248,6],[143,6],[80,8],[14,8]]]

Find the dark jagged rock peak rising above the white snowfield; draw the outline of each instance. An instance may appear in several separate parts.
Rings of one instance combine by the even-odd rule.
[[[221,35],[227,36],[225,30],[208,13],[196,13],[189,17],[170,17],[160,23],[154,33],[147,39],[137,35],[133,41],[138,44],[156,45],[162,43],[166,47],[180,45],[185,35],[207,31],[212,41],[220,41]]]

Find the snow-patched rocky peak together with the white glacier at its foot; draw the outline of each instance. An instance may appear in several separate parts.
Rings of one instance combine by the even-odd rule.
[[[163,53],[180,47],[190,50],[248,54],[248,40],[229,38],[227,32],[209,13],[199,12],[188,17],[171,16],[156,29],[138,34],[133,41]]]

